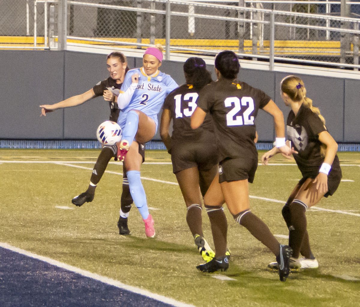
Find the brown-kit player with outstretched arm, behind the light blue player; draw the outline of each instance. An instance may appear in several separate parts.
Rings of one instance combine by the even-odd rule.
[[[99,96],[103,96],[104,100],[109,102],[110,106],[110,118],[114,122],[117,122],[117,118],[120,113],[120,109],[117,106],[116,98],[124,81],[125,74],[129,70],[127,67],[126,56],[121,52],[114,51],[107,56],[107,69],[110,76],[96,84],[93,88],[85,93],[77,96],[72,96],[66,100],[60,101],[52,105],[41,105],[41,115],[46,116],[46,113],[62,109],[65,107],[78,106],[84,102]],[[112,157],[116,158],[117,147],[104,146],[100,152],[98,159],[96,160],[93,173],[91,174],[90,184],[84,193],[74,197],[72,203],[78,207],[82,206],[85,202],[91,202],[94,199],[95,188],[99,183],[101,177],[104,174],[105,169]],[[145,151],[144,145],[139,145],[139,161],[144,162]],[[129,182],[126,178],[126,172],[123,170],[122,179],[122,194],[121,194],[121,210],[120,217],[118,220],[119,234],[130,234],[130,230],[127,226],[127,217],[131,209],[133,200],[130,194]]]

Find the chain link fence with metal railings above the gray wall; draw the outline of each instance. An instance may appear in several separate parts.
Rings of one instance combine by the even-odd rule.
[[[23,37],[30,45],[32,38],[34,46],[56,48],[63,1],[68,43],[122,48],[162,43],[171,52],[230,49],[254,59],[359,68],[360,5],[346,6],[351,18],[341,19],[339,1],[2,0],[0,47],[6,37],[13,42]]]

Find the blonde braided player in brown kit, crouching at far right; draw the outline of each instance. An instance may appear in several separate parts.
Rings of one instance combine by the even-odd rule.
[[[306,97],[304,82],[289,75],[280,86],[285,105],[291,107],[287,136],[297,151],[293,156],[302,174],[282,210],[289,228],[289,246],[293,249],[290,267],[314,269],[319,265],[311,252],[305,212],[321,198],[332,195],[341,182],[340,162],[336,155],[338,145],[325,127],[320,110]],[[264,153],[262,163],[266,165],[277,153],[277,148]],[[278,269],[276,262],[268,266]]]

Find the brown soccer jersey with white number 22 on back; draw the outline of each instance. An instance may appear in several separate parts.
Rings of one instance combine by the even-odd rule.
[[[226,158],[257,159],[254,120],[271,98],[244,82],[220,79],[199,93],[198,106],[210,112],[215,124],[220,161]]]

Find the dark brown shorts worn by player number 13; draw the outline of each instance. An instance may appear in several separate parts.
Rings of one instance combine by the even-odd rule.
[[[217,147],[209,143],[174,142],[171,148],[172,172],[176,174],[193,167],[208,171],[219,162],[217,152]]]

